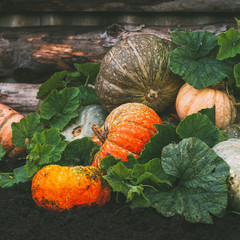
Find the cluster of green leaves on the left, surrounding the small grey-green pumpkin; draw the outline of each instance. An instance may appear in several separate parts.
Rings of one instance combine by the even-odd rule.
[[[90,164],[97,144],[90,138],[68,142],[60,131],[77,116],[80,106],[99,103],[94,88],[88,86],[94,84],[99,67],[99,63],[75,64],[76,72],[56,72],[39,87],[40,114],[30,113],[12,124],[13,144],[23,147],[28,140],[26,163],[11,173],[0,173],[0,187],[30,181],[49,164]],[[0,148],[0,159],[4,155]]]

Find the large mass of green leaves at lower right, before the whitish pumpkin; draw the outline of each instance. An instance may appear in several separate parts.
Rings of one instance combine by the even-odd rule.
[[[215,107],[186,117],[177,127],[155,125],[138,158],[112,156],[100,167],[113,191],[131,207],[153,207],[164,216],[181,214],[190,222],[212,223],[227,206],[228,165],[211,149],[224,140],[213,124]]]

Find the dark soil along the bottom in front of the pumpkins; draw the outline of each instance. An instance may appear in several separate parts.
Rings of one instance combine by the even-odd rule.
[[[0,162],[0,171],[23,165]],[[214,224],[192,224],[181,216],[166,218],[154,209],[130,209],[123,196],[113,193],[102,207],[52,212],[38,207],[31,197],[31,182],[0,189],[0,239],[8,240],[237,240],[240,215],[213,217]]]

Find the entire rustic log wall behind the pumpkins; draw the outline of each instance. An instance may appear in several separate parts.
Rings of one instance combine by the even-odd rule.
[[[27,114],[40,83],[74,63],[100,62],[121,39],[170,39],[176,28],[218,34],[236,27],[235,17],[240,0],[1,0],[0,102]]]

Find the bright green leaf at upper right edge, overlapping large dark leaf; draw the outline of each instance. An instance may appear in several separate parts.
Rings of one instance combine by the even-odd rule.
[[[218,35],[220,49],[217,55],[218,60],[235,57],[240,54],[240,31],[230,28]]]

